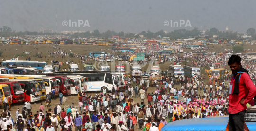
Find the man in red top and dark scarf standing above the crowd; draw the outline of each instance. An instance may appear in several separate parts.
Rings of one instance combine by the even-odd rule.
[[[229,131],[244,131],[246,104],[256,95],[256,87],[238,55],[232,55],[228,65],[233,74],[229,87]]]

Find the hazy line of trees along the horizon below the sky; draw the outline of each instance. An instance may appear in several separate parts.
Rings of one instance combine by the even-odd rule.
[[[112,38],[112,36],[119,36],[119,38],[140,38],[141,36],[146,38],[163,38],[163,37],[169,37],[171,40],[174,39],[188,39],[188,38],[205,38],[210,39],[213,38],[214,35],[217,37],[215,39],[223,39],[223,40],[231,40],[231,39],[250,39],[250,40],[256,40],[256,32],[254,28],[249,28],[246,33],[238,33],[238,32],[229,32],[229,31],[219,31],[217,28],[211,28],[210,30],[206,30],[205,32],[201,32],[198,28],[194,28],[192,30],[187,29],[176,29],[171,32],[165,32],[164,30],[160,30],[158,32],[151,32],[148,31],[142,31],[138,34],[136,33],[125,33],[123,31],[121,32],[115,32],[115,31],[106,31],[100,33],[99,30],[94,30],[92,32],[86,31],[83,33],[74,33],[74,34],[62,34],[62,33],[42,33],[42,32],[31,32],[31,31],[19,31],[16,32],[15,30],[12,30],[8,26],[3,26],[0,28],[0,37],[10,37],[10,36],[26,36],[26,35],[64,35],[69,36],[72,38],[91,38],[91,37],[101,37],[101,38]],[[250,35],[251,38],[242,38],[242,35]]]

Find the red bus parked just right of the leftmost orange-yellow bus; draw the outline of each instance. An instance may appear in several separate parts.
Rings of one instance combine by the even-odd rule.
[[[6,84],[12,94],[12,102],[19,103],[24,102],[24,94],[18,81],[5,81],[0,84]]]

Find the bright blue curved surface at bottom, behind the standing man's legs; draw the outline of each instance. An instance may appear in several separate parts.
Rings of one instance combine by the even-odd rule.
[[[161,131],[225,131],[229,117],[183,119],[170,122]],[[246,122],[250,131],[256,131],[256,122]]]

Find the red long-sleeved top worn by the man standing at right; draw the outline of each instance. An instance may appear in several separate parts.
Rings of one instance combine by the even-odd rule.
[[[232,85],[232,93],[234,91],[234,76],[231,79],[230,85]],[[239,80],[239,95],[229,94],[229,108],[230,114],[236,114],[240,111],[246,110],[246,104],[256,95],[256,87],[253,84],[251,77],[247,73],[243,73]],[[240,104],[241,99],[245,99],[244,105]]]

